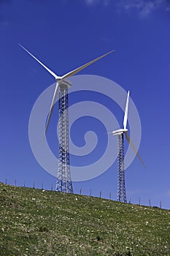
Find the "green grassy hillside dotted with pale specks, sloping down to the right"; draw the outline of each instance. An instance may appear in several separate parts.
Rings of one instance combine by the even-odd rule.
[[[170,211],[0,183],[0,255],[170,255]]]

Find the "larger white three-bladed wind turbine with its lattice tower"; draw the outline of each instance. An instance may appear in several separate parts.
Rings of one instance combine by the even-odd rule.
[[[19,44],[20,45],[20,44]],[[23,50],[26,50],[22,45],[20,45]],[[109,51],[112,53],[114,50]],[[53,113],[53,108],[55,105],[55,100],[57,98],[57,93],[59,92],[59,109],[58,109],[58,173],[57,173],[57,182],[56,182],[56,191],[58,192],[69,192],[73,193],[72,187],[72,178],[70,173],[70,162],[69,162],[69,96],[68,96],[68,88],[72,86],[69,81],[65,80],[66,78],[72,77],[72,75],[77,74],[85,67],[88,67],[90,64],[98,61],[104,56],[107,56],[109,53],[105,53],[102,56],[90,61],[77,69],[74,69],[63,76],[56,75],[52,70],[50,70],[45,64],[42,64],[39,59],[31,54],[28,50],[26,52],[31,55],[39,64],[42,65],[53,77],[56,81],[56,86],[53,94],[53,99],[50,105],[50,111],[47,116],[47,123],[45,127],[45,135],[47,133],[47,128],[50,123],[50,118]]]

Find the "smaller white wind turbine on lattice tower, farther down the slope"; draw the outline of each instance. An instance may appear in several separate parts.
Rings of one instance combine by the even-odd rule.
[[[117,135],[117,151],[118,151],[117,152],[117,176],[118,176],[117,177],[117,200],[124,203],[127,203],[126,195],[125,195],[124,135],[126,140],[128,140],[128,143],[134,149],[134,152],[136,153],[137,157],[139,157],[139,160],[142,162],[142,165],[144,165],[142,158],[140,157],[138,151],[136,150],[134,144],[132,143],[128,135],[128,129],[126,128],[127,121],[128,121],[129,94],[130,94],[130,91],[128,91],[128,96],[126,99],[125,114],[123,119],[123,129],[117,129],[115,131],[112,131],[112,135]]]

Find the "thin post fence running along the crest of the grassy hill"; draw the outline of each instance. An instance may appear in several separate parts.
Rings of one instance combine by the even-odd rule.
[[[4,184],[6,184],[6,185],[11,185],[11,186],[12,186],[12,184],[8,184],[7,178],[5,179],[5,183],[4,183]],[[15,179],[15,183],[14,183],[13,186],[15,186],[15,187],[26,187],[26,182],[23,181],[23,186],[17,186],[17,180]],[[32,187],[29,186],[29,188],[32,188],[32,189],[40,189],[39,187],[35,187],[35,181],[33,181]],[[53,184],[50,185],[50,189],[45,189],[45,187],[44,187],[44,185],[43,185],[43,183],[42,183],[41,189],[42,189],[42,190],[47,190],[47,191],[50,190],[50,191],[56,192],[55,187],[54,187]],[[76,193],[76,194],[77,194],[77,193]],[[81,189],[80,189],[80,193],[79,193],[78,195],[86,195],[86,196],[90,196],[90,197],[99,197],[99,198],[101,198],[101,199],[114,200],[114,199],[112,199],[112,193],[111,193],[111,192],[109,192],[109,197],[108,197],[108,198],[105,198],[105,197],[101,197],[102,191],[99,192],[98,196],[92,195],[92,189],[90,189],[89,194],[87,195],[87,194],[82,194],[82,188],[81,188]],[[127,201],[127,203],[129,203],[129,204],[136,204],[136,205],[139,205],[139,206],[145,206],[145,205],[141,205],[141,198],[140,198],[140,197],[139,197],[139,202],[138,202],[138,203],[132,203],[132,202],[131,202],[131,198]],[[149,199],[147,206],[150,206],[150,207],[152,207],[152,208],[162,208],[162,201],[159,201],[159,206],[152,206],[151,200]]]

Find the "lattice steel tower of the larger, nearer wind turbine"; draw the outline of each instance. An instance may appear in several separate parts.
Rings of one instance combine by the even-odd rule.
[[[73,193],[69,162],[69,95],[68,85],[59,86],[58,174],[56,191]]]

